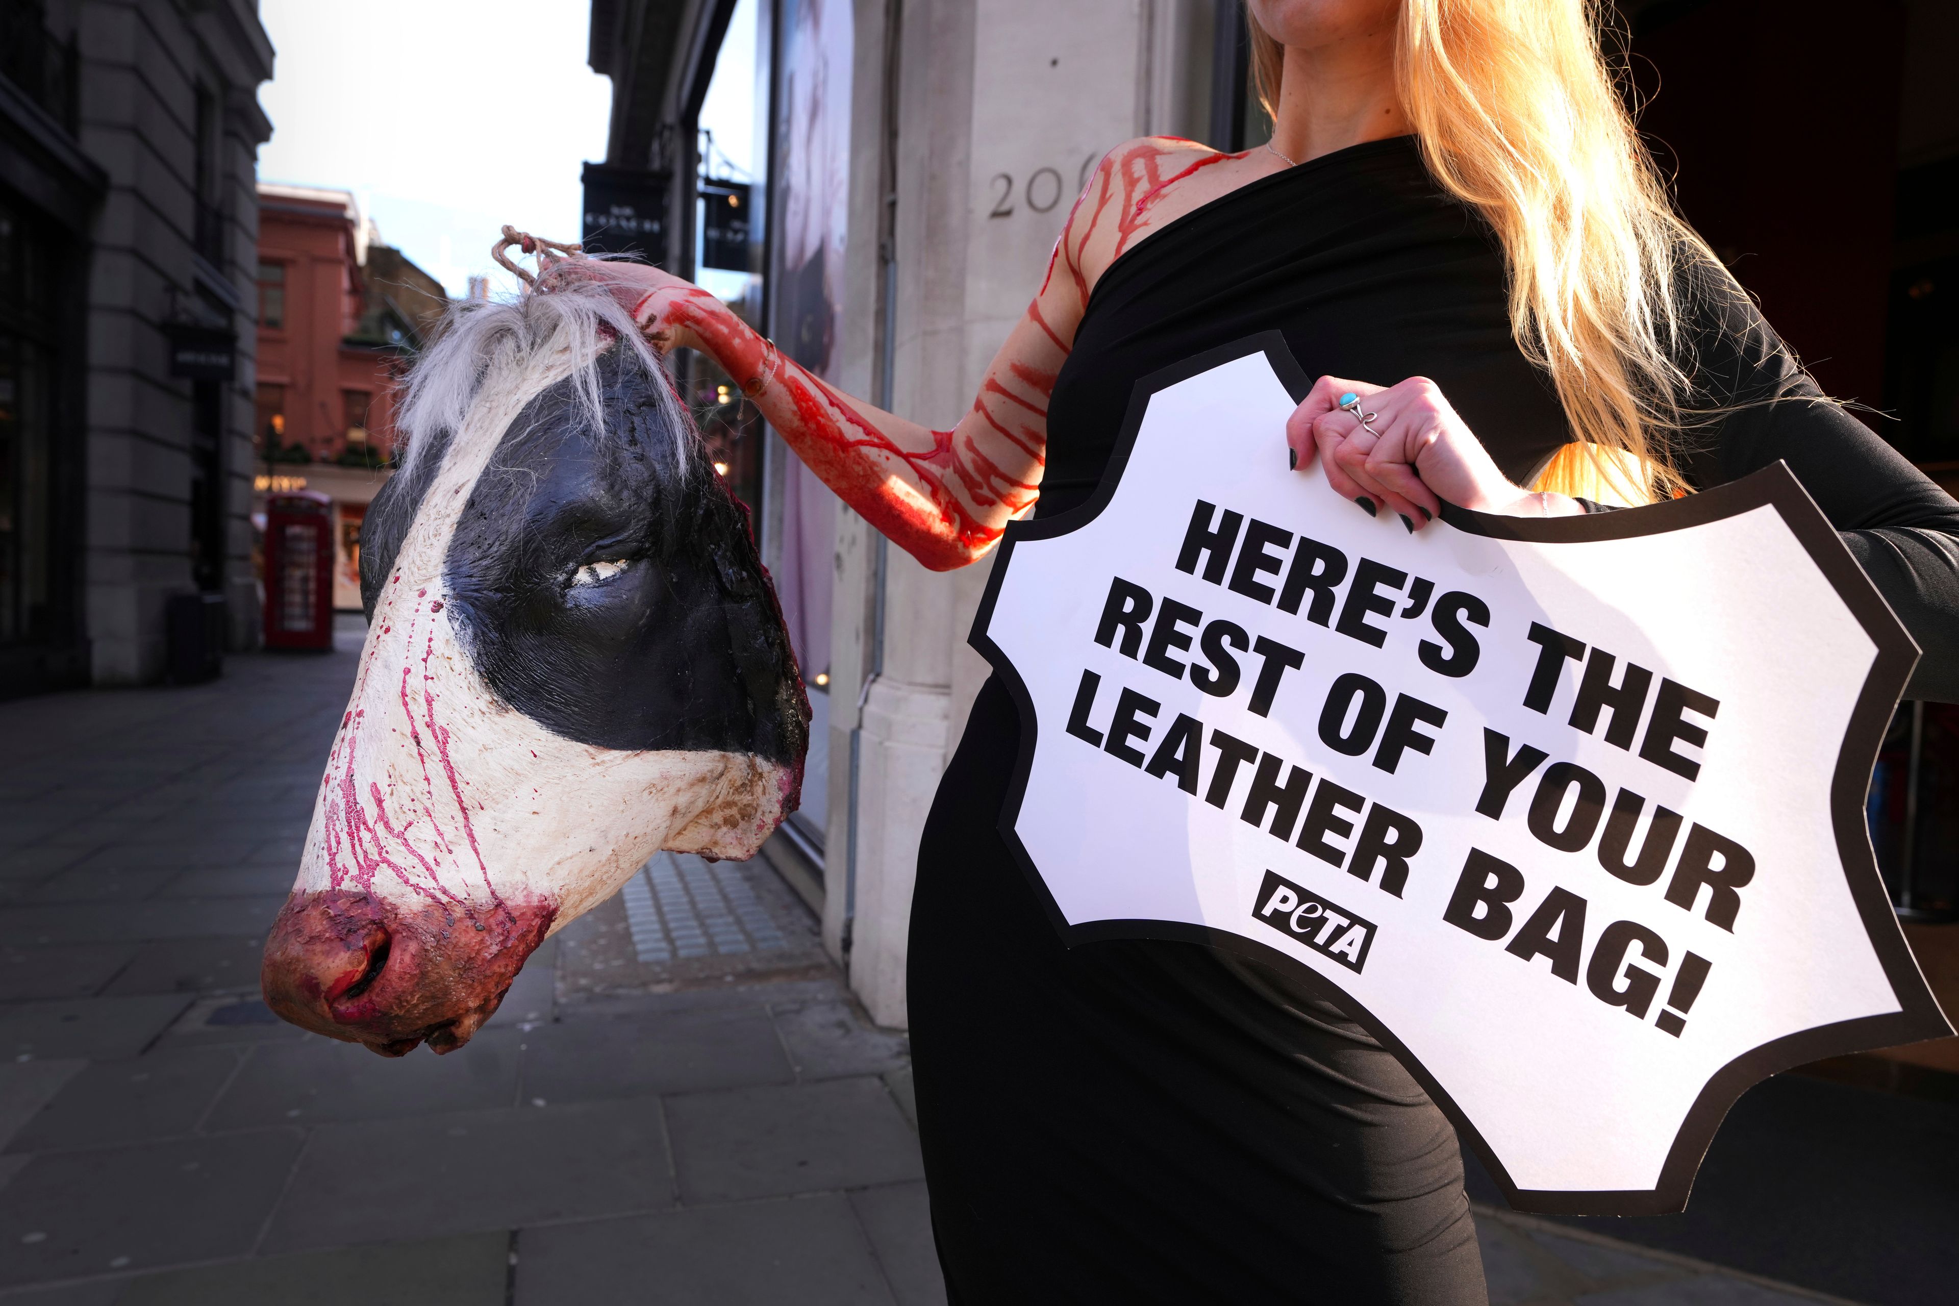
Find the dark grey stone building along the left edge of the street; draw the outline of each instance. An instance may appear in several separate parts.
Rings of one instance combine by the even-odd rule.
[[[167,603],[259,629],[251,0],[0,4],[0,697],[141,683]]]

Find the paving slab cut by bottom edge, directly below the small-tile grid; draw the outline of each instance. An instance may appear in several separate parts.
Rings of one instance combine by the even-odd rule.
[[[523,1230],[515,1306],[893,1306],[836,1194]]]

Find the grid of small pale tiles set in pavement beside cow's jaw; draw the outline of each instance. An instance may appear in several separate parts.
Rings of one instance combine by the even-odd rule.
[[[662,852],[625,883],[621,897],[641,961],[789,946],[735,862]]]

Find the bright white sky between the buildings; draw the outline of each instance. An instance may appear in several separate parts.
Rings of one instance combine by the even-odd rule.
[[[351,190],[462,296],[503,223],[580,235],[580,164],[605,157],[611,80],[586,67],[590,4],[263,0],[278,51],[259,88],[259,178]],[[731,151],[733,153],[733,151]]]

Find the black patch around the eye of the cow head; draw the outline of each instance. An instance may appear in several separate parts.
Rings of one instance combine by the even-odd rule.
[[[599,374],[613,439],[580,431],[558,382],[470,490],[443,572],[476,670],[584,744],[799,756],[799,697],[782,695],[801,681],[782,674],[782,617],[742,507],[705,458],[686,468],[699,491],[668,490],[682,468],[664,380],[619,350]]]

